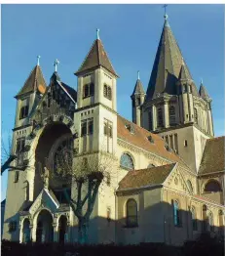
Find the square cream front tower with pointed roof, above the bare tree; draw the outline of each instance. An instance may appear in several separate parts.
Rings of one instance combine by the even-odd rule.
[[[99,29],[96,29],[94,44],[75,75],[78,81],[75,118],[80,120],[77,131],[81,136],[79,152],[112,152],[117,145],[118,75],[99,38]]]

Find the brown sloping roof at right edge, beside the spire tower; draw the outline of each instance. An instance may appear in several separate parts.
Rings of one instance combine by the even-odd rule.
[[[199,175],[225,171],[225,137],[206,140]]]

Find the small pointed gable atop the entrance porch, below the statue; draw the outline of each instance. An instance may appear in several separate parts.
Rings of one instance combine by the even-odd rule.
[[[59,203],[54,193],[46,189],[39,193],[38,197],[29,208],[29,213],[33,215],[39,208],[43,207],[50,209],[52,212],[56,211],[59,207]]]

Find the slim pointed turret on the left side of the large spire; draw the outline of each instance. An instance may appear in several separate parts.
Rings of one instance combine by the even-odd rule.
[[[140,81],[140,73],[137,71],[137,80],[131,94],[132,101],[132,122],[140,126],[141,124],[141,105],[144,103],[145,92]]]

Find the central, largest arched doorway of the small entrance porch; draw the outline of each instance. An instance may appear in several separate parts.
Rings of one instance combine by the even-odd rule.
[[[36,230],[37,242],[52,242],[54,241],[53,217],[47,210],[42,210],[37,218]]]

